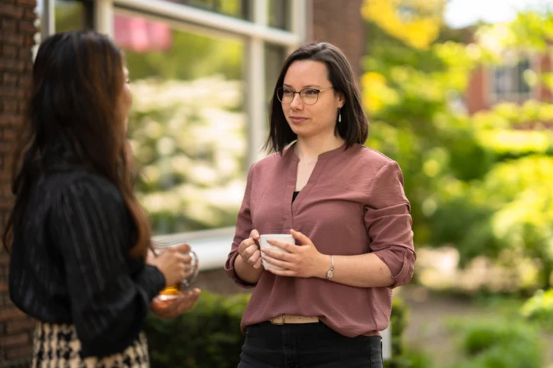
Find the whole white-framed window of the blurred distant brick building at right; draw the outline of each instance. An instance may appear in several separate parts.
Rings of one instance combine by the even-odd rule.
[[[493,103],[523,102],[536,97],[532,79],[539,73],[539,59],[533,52],[505,52],[503,65],[489,70]]]

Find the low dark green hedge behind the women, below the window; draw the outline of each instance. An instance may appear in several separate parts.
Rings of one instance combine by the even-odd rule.
[[[202,293],[196,306],[174,320],[148,316],[151,367],[229,368],[240,361],[244,335],[240,322],[250,295],[218,296]],[[406,327],[406,307],[393,300],[392,359],[388,368],[417,368],[404,356],[402,333]]]

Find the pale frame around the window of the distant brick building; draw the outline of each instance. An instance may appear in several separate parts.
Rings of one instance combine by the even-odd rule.
[[[510,60],[505,60],[505,65],[500,67],[506,67],[507,72],[515,74],[518,72],[516,70],[516,66],[518,66],[518,62],[523,59],[528,59],[530,62],[530,69],[534,70],[537,75],[540,74],[540,58],[538,52],[535,52],[534,50],[508,50],[505,52],[505,58],[509,58]],[[498,102],[524,102],[527,99],[538,99],[539,97],[539,88],[536,88],[537,86],[529,86],[530,90],[528,93],[507,93],[507,94],[501,94],[498,95],[496,93],[495,85],[496,85],[496,70],[500,67],[492,67],[488,70],[488,90],[487,93],[490,97],[491,104],[497,104]],[[512,79],[518,78],[516,75],[510,76]]]

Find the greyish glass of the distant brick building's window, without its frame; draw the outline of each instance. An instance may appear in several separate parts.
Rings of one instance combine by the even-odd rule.
[[[532,88],[525,79],[532,69],[530,59],[525,57],[507,62],[492,70],[492,97],[495,101],[525,101],[532,97]]]

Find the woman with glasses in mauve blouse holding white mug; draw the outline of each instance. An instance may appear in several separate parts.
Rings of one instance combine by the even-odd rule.
[[[270,105],[274,154],[250,168],[225,264],[254,288],[239,368],[382,368],[379,331],[415,252],[400,167],[366,148],[367,136],[344,54],[328,43],[294,51]],[[275,233],[296,244],[261,251],[259,235]]]

